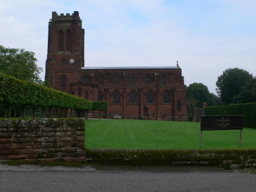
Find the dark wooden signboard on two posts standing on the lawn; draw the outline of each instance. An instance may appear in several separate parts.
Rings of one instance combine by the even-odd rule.
[[[239,147],[242,146],[243,115],[203,115],[201,116],[200,148],[202,131],[240,130]]]

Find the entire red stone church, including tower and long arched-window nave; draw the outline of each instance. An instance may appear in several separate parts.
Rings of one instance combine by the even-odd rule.
[[[52,12],[45,78],[56,90],[109,101],[106,118],[187,120],[186,86],[178,61],[174,67],[86,67],[78,11]]]

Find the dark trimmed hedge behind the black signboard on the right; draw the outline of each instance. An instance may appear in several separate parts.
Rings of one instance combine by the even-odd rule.
[[[208,106],[205,115],[244,115],[244,126],[256,128],[256,102]]]

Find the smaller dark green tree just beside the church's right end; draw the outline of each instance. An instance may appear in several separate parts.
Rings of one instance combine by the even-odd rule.
[[[194,109],[202,108],[203,103],[209,103],[211,94],[203,83],[194,82],[187,87],[187,116],[193,118]]]

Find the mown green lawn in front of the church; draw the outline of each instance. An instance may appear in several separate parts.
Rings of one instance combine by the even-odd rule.
[[[203,131],[202,148],[237,148],[240,130]],[[86,120],[86,148],[197,149],[200,123]],[[256,129],[244,128],[242,148],[256,148]]]

